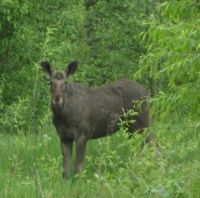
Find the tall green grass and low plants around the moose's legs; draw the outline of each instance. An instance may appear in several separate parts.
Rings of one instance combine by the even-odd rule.
[[[59,138],[48,126],[37,135],[0,134],[0,197],[200,197],[198,126],[155,123],[160,157],[153,146],[140,149],[140,135],[90,141],[83,173],[68,181]]]

